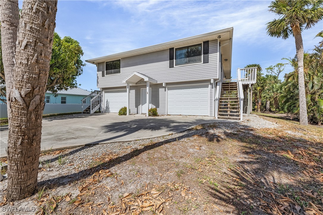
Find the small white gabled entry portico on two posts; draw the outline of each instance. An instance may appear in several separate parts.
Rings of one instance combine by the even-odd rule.
[[[138,73],[138,72],[133,72],[131,75],[129,75],[127,78],[125,78],[122,83],[126,83],[127,84],[127,115],[129,115],[129,100],[130,100],[130,84],[131,85],[137,85],[137,82],[139,82],[141,79],[143,79],[143,82],[146,83],[146,104],[145,108],[147,110],[145,110],[144,112],[146,112],[146,116],[148,116],[148,110],[150,107],[150,98],[151,98],[151,90],[149,90],[149,85],[150,83],[157,83],[157,81],[151,77],[148,77],[147,75]]]

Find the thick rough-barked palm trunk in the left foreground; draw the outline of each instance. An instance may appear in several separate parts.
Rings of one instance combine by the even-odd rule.
[[[2,4],[0,9],[3,9]],[[11,83],[13,87],[11,92],[7,93],[8,106],[11,108],[8,136],[8,201],[26,198],[37,186],[42,116],[56,11],[57,0],[23,2],[22,16],[16,33],[16,63],[13,62],[14,77]],[[7,43],[16,43],[10,37],[6,37],[5,40],[10,40],[5,41]],[[4,62],[14,60],[6,56],[8,54],[5,53]]]

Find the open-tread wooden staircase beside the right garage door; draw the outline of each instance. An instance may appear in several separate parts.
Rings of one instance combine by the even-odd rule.
[[[237,82],[222,83],[218,119],[240,120],[240,103]]]

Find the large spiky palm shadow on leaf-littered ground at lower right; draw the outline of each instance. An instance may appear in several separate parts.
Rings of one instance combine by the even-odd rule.
[[[225,136],[242,149],[239,151],[238,157],[232,159],[233,166],[228,171],[224,171],[223,176],[218,179],[218,183],[222,186],[216,189],[208,186],[208,189],[205,189],[205,192],[214,199],[233,205],[235,210],[242,214],[266,214],[259,208],[261,200],[277,205],[279,209],[282,209],[280,210],[282,214],[284,210],[286,214],[291,212],[304,214],[304,209],[309,201],[323,205],[319,200],[313,200],[306,195],[299,196],[299,193],[304,190],[319,192],[321,183],[303,178],[305,176],[302,173],[304,169],[291,160],[287,152],[290,150],[293,153],[299,148],[312,148],[317,145],[316,142],[303,138],[292,138],[292,140],[286,141],[284,135],[264,137],[256,134],[256,129],[246,126],[240,126],[237,132],[226,133]],[[205,137],[208,138],[208,141],[214,141],[210,133]],[[286,154],[281,154],[278,151],[285,151]],[[278,196],[281,194],[290,198],[294,203],[286,202],[288,207],[286,206],[284,209],[284,203],[275,202],[275,193]],[[307,203],[302,203],[302,201]],[[304,208],[298,212],[295,203],[301,207],[304,206]],[[271,211],[272,214],[275,213],[274,210],[268,206],[268,211]]]

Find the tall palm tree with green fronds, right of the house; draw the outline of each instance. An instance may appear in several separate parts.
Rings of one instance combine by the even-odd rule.
[[[269,5],[269,11],[280,15],[279,19],[267,23],[267,34],[287,39],[295,37],[298,72],[299,122],[307,125],[307,108],[304,83],[304,49],[302,30],[311,28],[323,19],[322,0],[276,0]]]

